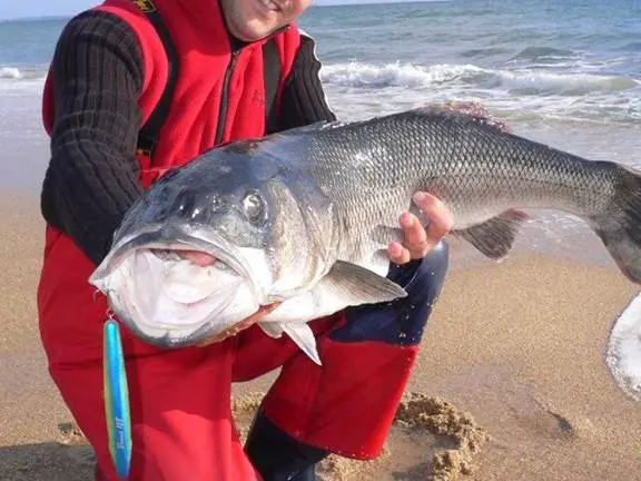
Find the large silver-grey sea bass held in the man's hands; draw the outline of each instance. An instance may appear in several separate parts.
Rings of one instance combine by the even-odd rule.
[[[145,341],[193,345],[283,302],[259,325],[319,363],[306,322],[405,295],[386,246],[412,195],[438,196],[454,234],[483,254],[510,251],[525,215],[585,220],[621,271],[641,281],[641,177],[491,125],[421,108],[288,130],[213,149],[166,174],[126,215],[90,283]],[[199,267],[174,251],[218,261]]]

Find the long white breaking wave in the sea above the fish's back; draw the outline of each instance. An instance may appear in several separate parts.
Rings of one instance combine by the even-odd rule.
[[[526,49],[527,50],[527,49]],[[523,52],[522,52],[523,53]],[[561,53],[530,49],[525,55]],[[641,81],[622,76],[539,68],[481,68],[472,63],[333,63],[320,78],[341,97],[368,96],[371,102],[482,99],[503,111],[529,111],[544,116],[595,121],[641,120]]]

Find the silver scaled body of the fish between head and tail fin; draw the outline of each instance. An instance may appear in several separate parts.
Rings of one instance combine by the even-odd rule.
[[[416,189],[445,202],[455,228],[514,205],[590,215],[611,202],[618,179],[610,164],[586,164],[451,111],[413,110],[305,135],[310,173],[348,230],[397,226]]]

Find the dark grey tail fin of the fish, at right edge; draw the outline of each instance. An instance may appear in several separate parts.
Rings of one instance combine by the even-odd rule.
[[[617,168],[620,176],[612,200],[590,222],[623,274],[641,284],[641,173]]]

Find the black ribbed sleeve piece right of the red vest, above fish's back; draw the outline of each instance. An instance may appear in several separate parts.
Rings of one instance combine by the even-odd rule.
[[[314,40],[302,35],[300,47],[280,98],[282,130],[322,120],[336,120],[325,99],[319,70],[320,61],[316,58]]]

